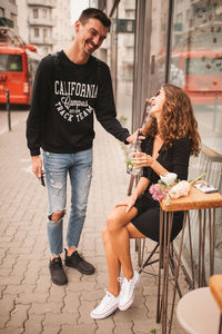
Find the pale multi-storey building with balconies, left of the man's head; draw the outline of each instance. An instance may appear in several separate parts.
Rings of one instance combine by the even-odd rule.
[[[47,55],[72,40],[70,0],[0,0],[0,18],[10,19],[26,43]]]

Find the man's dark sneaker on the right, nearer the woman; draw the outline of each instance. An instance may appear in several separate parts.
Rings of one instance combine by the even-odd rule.
[[[72,253],[71,256],[68,256],[67,249],[64,249],[64,252],[65,252],[65,259],[64,259],[65,266],[75,268],[81,274],[84,275],[91,275],[94,273],[94,267],[89,262],[84,261],[84,258],[80,256],[77,250]]]

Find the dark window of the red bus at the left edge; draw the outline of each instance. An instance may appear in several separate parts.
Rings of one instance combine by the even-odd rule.
[[[8,72],[22,71],[22,58],[20,55],[0,55],[0,70]]]

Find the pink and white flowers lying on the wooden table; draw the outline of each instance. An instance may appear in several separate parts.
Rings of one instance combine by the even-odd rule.
[[[162,179],[160,179],[158,184],[150,186],[149,191],[154,200],[165,199],[165,205],[170,205],[171,198],[188,196],[191,185],[200,180],[204,175],[205,173],[189,181],[175,179],[172,185],[167,185]]]

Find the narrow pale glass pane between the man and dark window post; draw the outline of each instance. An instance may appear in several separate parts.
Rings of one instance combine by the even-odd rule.
[[[118,119],[129,129],[132,124],[134,31],[135,0],[121,1],[112,16],[110,65]]]

